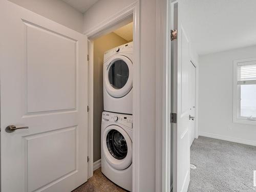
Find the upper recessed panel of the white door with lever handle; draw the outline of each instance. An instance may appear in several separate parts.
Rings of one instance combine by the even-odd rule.
[[[26,114],[76,110],[77,40],[25,24]]]

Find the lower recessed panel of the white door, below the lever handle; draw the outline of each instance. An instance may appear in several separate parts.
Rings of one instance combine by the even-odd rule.
[[[76,125],[48,132],[27,135],[23,137],[25,151],[24,164],[26,191],[34,191],[42,188],[48,188],[49,186],[53,185],[56,181],[61,181],[67,178],[68,176],[71,176],[78,172],[77,129],[78,128]],[[69,137],[67,134],[72,135],[71,137]],[[54,144],[54,140],[58,140],[58,142],[60,142],[61,139],[63,141],[63,144],[61,146],[58,146],[58,148],[51,148],[51,150],[38,150],[38,143],[40,144],[40,146],[42,143],[44,143],[44,146],[46,146],[49,145],[50,143]],[[67,156],[64,156],[65,153],[67,154]],[[32,156],[32,154],[36,154],[36,159]],[[53,154],[56,154],[58,156],[53,158]],[[47,156],[48,159],[46,162],[42,162],[43,164],[49,161],[48,163],[51,164],[52,168],[54,168],[55,166],[61,166],[62,164],[62,169],[60,173],[55,172],[54,174],[51,175],[48,174],[50,173],[50,170],[52,168],[50,170],[47,170],[47,166],[42,166],[42,164],[40,163],[40,160],[44,159],[45,156]],[[69,159],[67,159],[67,157]],[[34,173],[33,169],[36,169]],[[40,173],[40,180],[36,179],[38,177],[38,173]],[[33,181],[30,182],[31,180]]]

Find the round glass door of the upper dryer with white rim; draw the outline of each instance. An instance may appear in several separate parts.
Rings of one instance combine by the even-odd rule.
[[[123,56],[116,55],[106,66],[104,72],[104,84],[106,91],[112,97],[123,97],[133,87],[132,61]]]

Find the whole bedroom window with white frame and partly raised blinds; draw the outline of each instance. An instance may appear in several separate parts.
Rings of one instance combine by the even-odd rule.
[[[234,60],[233,121],[256,124],[256,58]]]

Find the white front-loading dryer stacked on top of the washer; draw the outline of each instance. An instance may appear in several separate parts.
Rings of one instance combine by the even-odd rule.
[[[104,53],[104,111],[133,114],[133,42]]]

